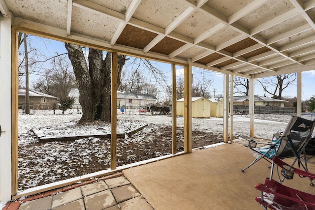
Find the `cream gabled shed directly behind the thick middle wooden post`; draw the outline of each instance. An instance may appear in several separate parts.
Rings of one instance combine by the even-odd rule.
[[[211,101],[205,97],[191,98],[191,117],[210,118]],[[184,116],[184,98],[177,100],[176,115]]]

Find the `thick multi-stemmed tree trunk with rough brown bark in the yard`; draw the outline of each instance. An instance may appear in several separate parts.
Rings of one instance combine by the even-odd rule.
[[[65,43],[69,59],[73,66],[78,89],[79,102],[82,107],[82,118],[85,121],[110,121],[111,90],[111,53],[103,60],[101,50],[89,49],[89,66],[81,46]],[[126,56],[118,56],[118,78],[126,61]],[[118,83],[119,83],[118,79]]]

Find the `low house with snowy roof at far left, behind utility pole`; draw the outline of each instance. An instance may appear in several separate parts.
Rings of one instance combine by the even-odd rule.
[[[26,103],[26,90],[19,89],[19,108],[22,109],[23,105]],[[30,96],[30,109],[51,109],[52,104],[56,103],[58,97],[53,95],[48,95],[35,90],[29,90]]]

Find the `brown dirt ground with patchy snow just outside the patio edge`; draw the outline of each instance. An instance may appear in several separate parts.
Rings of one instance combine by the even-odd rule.
[[[35,139],[35,136],[30,135]],[[221,135],[192,130],[192,148],[223,141]],[[184,150],[184,129],[177,128],[177,151]],[[49,148],[49,152],[45,150]],[[46,152],[43,152],[46,151]],[[117,166],[126,165],[172,151],[172,127],[150,124],[127,139],[117,139]],[[19,190],[69,179],[110,168],[110,139],[85,138],[19,146]]]

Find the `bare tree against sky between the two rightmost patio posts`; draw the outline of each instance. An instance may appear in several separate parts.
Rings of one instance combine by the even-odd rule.
[[[265,92],[272,95],[272,98],[281,99],[283,91],[292,85],[296,80],[296,73],[283,74],[258,80]]]

